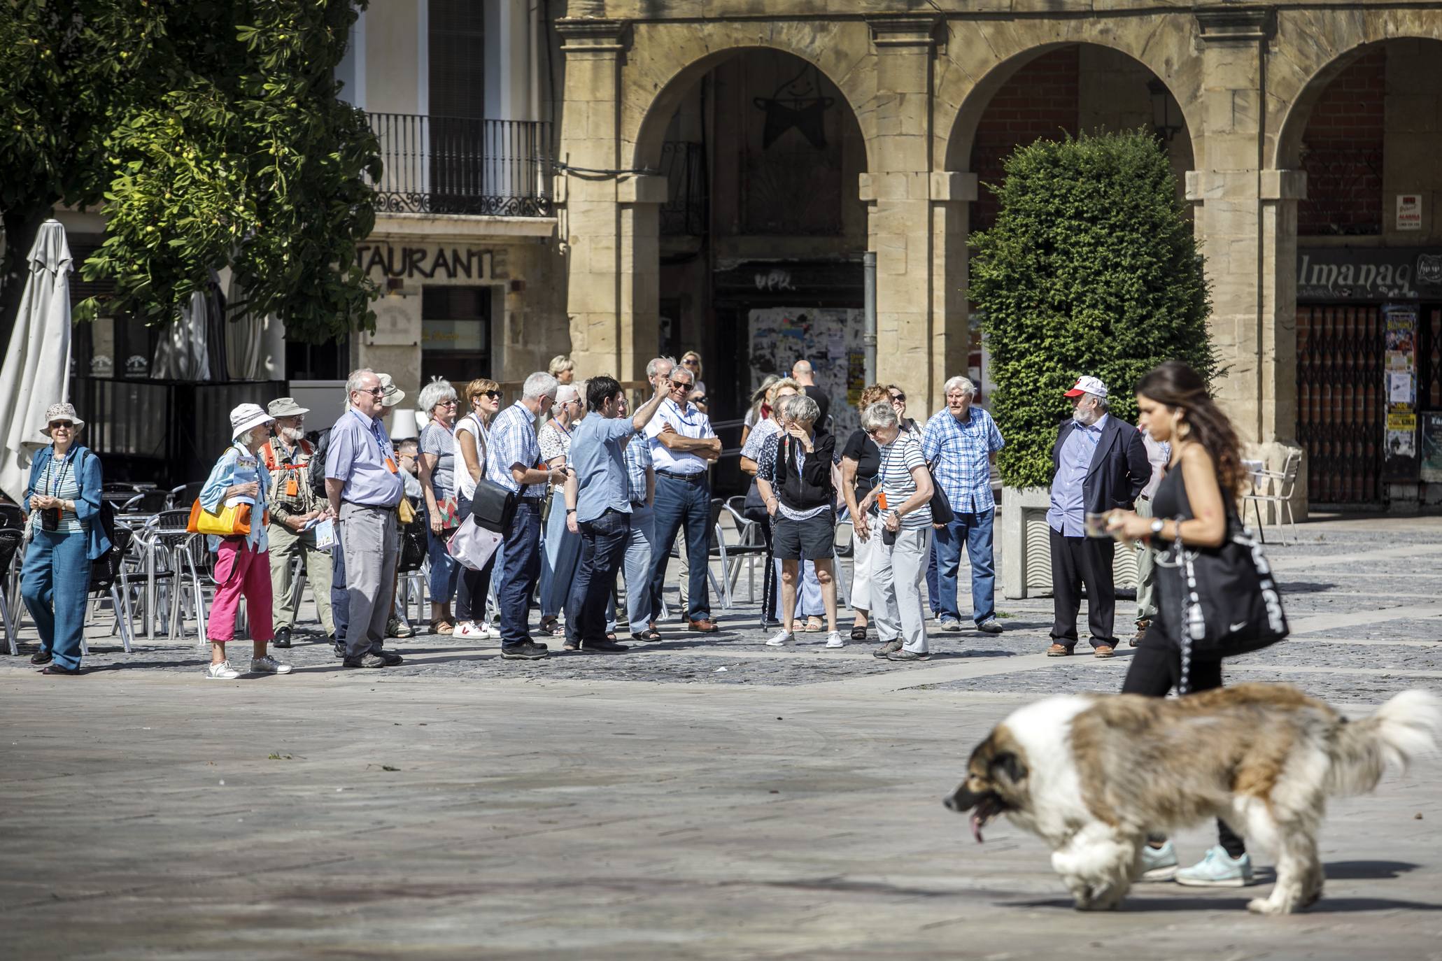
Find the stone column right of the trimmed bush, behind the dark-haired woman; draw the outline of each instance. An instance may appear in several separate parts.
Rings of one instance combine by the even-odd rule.
[[[1296,200],[1301,171],[1268,170],[1268,9],[1198,12],[1203,154],[1187,174],[1227,376],[1216,396],[1250,457],[1280,470],[1296,432]],[[1305,491],[1305,484],[1299,486]],[[1304,504],[1305,509],[1305,504]],[[1299,511],[1302,513],[1302,511]]]

